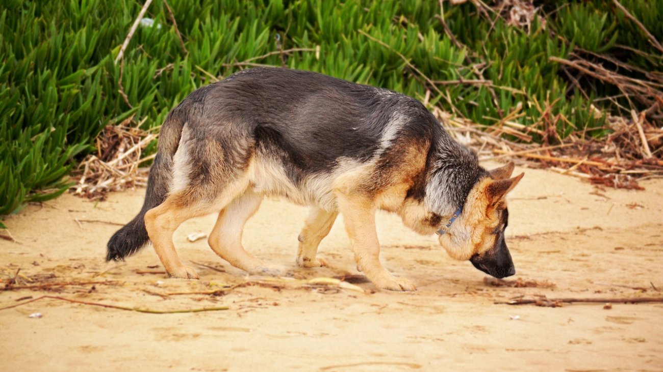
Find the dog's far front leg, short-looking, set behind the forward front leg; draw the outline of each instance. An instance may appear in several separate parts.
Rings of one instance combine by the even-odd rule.
[[[304,228],[300,232],[297,249],[297,264],[300,267],[320,267],[326,265],[325,261],[318,258],[318,246],[322,239],[330,233],[331,226],[338,216],[337,211],[330,212],[318,207],[313,207],[304,222]]]

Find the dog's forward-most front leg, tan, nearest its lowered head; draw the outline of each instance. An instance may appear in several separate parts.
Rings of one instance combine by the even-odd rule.
[[[339,212],[343,214],[345,230],[355,253],[357,267],[381,289],[414,291],[416,288],[402,277],[394,277],[380,263],[380,243],[375,231],[375,203],[359,196],[337,194]]]

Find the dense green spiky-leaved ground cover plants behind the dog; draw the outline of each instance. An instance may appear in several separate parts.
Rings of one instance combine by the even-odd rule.
[[[254,66],[428,97],[486,126],[505,117],[552,126],[558,138],[601,136],[607,114],[649,109],[660,95],[656,85],[634,93],[573,63],[661,83],[663,0],[619,2],[640,25],[616,1],[535,3],[526,25],[505,16],[505,3],[443,3],[441,12],[424,0],[154,0],[145,15],[153,23],[137,28],[115,63],[143,3],[5,0],[0,215],[64,192],[105,126],[132,116],[145,129],[158,126],[198,87]]]

